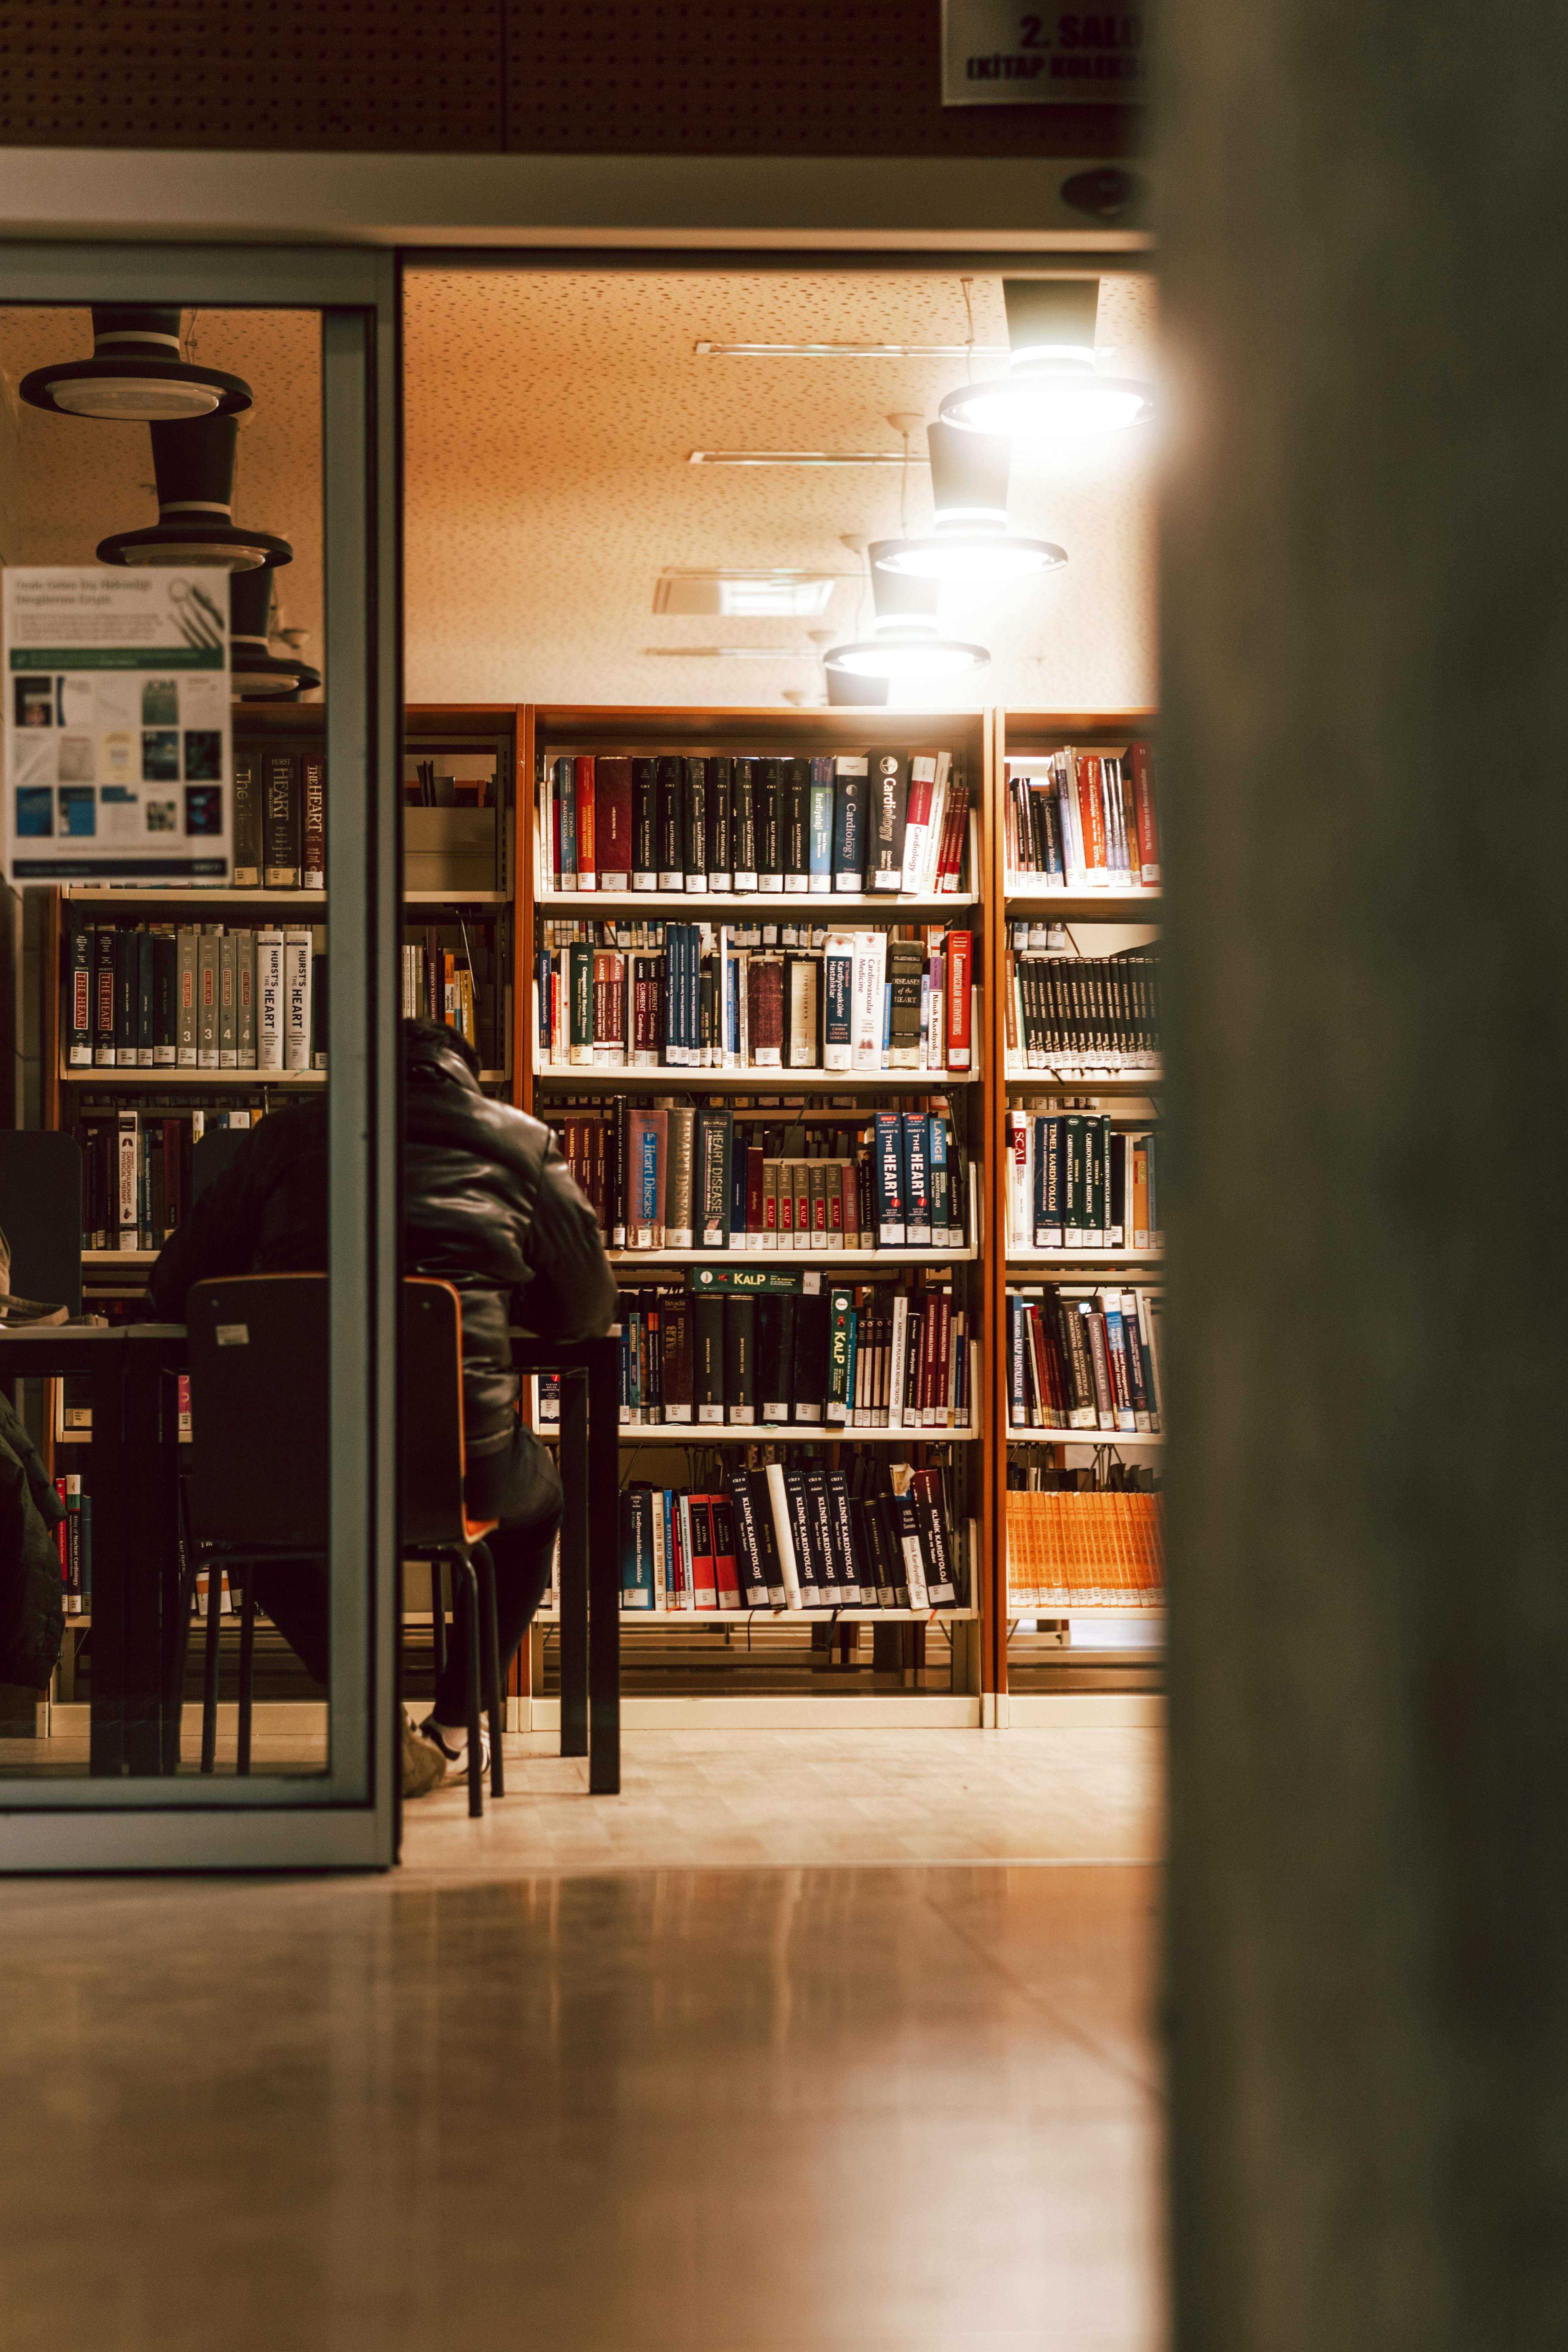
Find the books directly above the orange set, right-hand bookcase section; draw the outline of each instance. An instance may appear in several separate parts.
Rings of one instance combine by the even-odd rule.
[[[1161,1432],[1161,1291],[1009,1289],[1009,1428]]]

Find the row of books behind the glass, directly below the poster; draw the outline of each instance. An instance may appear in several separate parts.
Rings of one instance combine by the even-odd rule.
[[[68,913],[68,1068],[327,1068],[324,924],[230,931]]]

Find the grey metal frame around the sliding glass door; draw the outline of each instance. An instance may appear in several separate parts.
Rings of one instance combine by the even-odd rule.
[[[0,1780],[0,1872],[397,1858],[400,303],[390,252],[0,245],[0,303],[322,313],[327,604],[331,1764],[324,1776]],[[19,1802],[26,1799],[26,1802]]]

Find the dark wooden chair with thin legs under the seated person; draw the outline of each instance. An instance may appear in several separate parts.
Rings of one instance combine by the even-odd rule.
[[[202,1771],[216,1757],[219,1573],[268,1559],[327,1569],[327,1275],[233,1275],[197,1282],[190,1334],[190,1519],[207,1578]],[[494,1519],[463,1512],[463,1305],[449,1282],[402,1284],[397,1397],[400,1557],[430,1562],[433,1616],[444,1616],[442,1566],[468,1616],[468,1811],[484,1811],[480,1661],[484,1653],[491,1795],[505,1795]],[[484,1642],[480,1639],[484,1618]],[[444,1630],[444,1625],[442,1625]],[[240,1755],[252,1769],[256,1602],[240,1611]]]

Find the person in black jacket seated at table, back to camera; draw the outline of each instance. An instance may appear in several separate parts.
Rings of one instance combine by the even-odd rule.
[[[480,1091],[480,1063],[456,1030],[404,1021],[404,1272],[463,1296],[463,1432],[470,1519],[498,1519],[496,1616],[503,1675],[550,1583],[562,1515],[555,1461],[517,1418],[508,1324],[541,1338],[597,1338],[616,1315],[599,1223],[548,1127]],[[193,1282],[327,1265],[327,1103],[273,1110],[207,1185],[165,1244],[153,1312],[186,1319]],[[200,1406],[197,1406],[200,1411]],[[256,1569],[256,1602],[317,1682],[327,1682],[327,1583],[315,1562]],[[468,1766],[468,1635],[456,1613],[435,1705],[402,1726],[404,1795]],[[484,1743],[489,1766],[489,1740]]]

